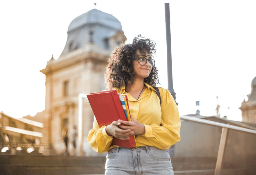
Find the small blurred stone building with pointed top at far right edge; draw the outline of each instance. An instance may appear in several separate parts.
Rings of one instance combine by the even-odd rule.
[[[248,101],[244,100],[239,109],[242,111],[243,121],[256,123],[256,77],[252,80],[251,87],[251,94],[247,95]]]

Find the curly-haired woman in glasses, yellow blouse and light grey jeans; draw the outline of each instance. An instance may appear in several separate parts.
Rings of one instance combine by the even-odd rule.
[[[155,43],[140,37],[115,49],[105,74],[108,89],[127,94],[131,121],[113,121],[99,128],[94,118],[88,135],[88,142],[96,152],[108,151],[106,175],[173,174],[168,149],[180,140],[179,112],[167,89],[158,88],[160,104],[153,88],[158,83],[152,59]],[[128,140],[131,135],[136,136],[135,147],[111,145],[113,137]]]

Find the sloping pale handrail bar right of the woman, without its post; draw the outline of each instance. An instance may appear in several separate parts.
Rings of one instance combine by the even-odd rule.
[[[219,122],[210,121],[210,120],[206,120],[206,119],[201,119],[201,118],[196,118],[196,117],[191,117],[191,116],[186,116],[186,115],[182,115],[182,116],[180,116],[180,118],[183,120],[190,120],[193,122],[199,122],[199,123],[204,123],[204,124],[208,124],[208,125],[219,126],[219,127],[223,127],[223,128],[229,128],[229,129],[234,129],[234,130],[238,130],[238,131],[256,134],[256,130],[242,128],[239,126],[233,126],[233,125],[229,125],[229,124],[225,124],[225,123],[219,123]]]

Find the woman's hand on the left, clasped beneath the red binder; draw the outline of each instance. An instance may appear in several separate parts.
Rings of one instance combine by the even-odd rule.
[[[130,136],[134,135],[134,132],[130,129],[121,129],[121,123],[119,121],[113,121],[110,125],[106,126],[106,132],[108,136],[114,136],[121,140],[129,140]]]

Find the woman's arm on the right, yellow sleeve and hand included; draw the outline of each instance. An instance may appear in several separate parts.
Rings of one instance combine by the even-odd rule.
[[[129,125],[129,127],[121,126],[123,129],[131,129],[135,135],[142,132],[143,134],[139,135],[147,138],[151,145],[165,150],[180,140],[181,122],[176,102],[171,93],[164,88],[159,88],[159,92],[162,100],[160,126],[154,123],[151,125],[142,124],[135,119],[131,122],[120,122]],[[140,127],[141,125],[144,125],[144,128]]]

